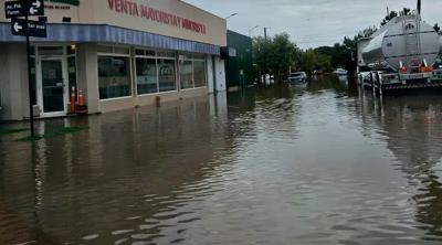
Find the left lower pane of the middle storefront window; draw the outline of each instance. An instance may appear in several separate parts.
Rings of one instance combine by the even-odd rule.
[[[137,57],[138,95],[158,93],[157,60]]]

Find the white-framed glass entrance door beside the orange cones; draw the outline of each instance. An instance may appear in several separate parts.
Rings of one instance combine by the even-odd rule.
[[[65,114],[67,81],[63,58],[42,58],[39,63],[42,114]]]

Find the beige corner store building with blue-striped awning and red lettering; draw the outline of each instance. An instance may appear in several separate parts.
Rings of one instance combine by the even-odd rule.
[[[32,42],[34,115],[70,113],[72,87],[88,113],[206,95],[225,87],[227,22],[178,0],[45,0],[48,39]],[[0,120],[29,117],[27,49],[0,4]]]

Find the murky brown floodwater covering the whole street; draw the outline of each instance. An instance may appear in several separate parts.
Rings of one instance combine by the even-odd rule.
[[[39,121],[90,129],[0,138],[0,244],[441,244],[441,98],[324,77]]]

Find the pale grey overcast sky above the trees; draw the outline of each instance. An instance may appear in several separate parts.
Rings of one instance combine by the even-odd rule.
[[[249,35],[287,32],[302,49],[333,45],[369,25],[379,25],[390,10],[415,9],[417,0],[185,0],[228,20],[229,30]],[[442,24],[442,0],[422,0],[422,19]]]

